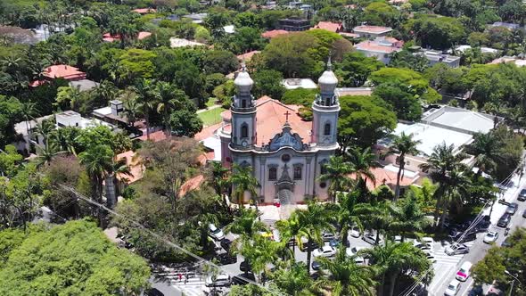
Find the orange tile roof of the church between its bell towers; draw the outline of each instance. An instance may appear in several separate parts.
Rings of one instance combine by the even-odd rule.
[[[285,112],[289,112],[289,124],[293,133],[298,133],[304,143],[310,143],[310,130],[312,122],[301,119],[298,111],[300,105],[285,105],[267,95],[262,96],[256,101],[256,134],[258,144],[268,144],[268,142],[278,133],[281,132],[285,123]],[[232,118],[229,110],[223,111],[221,117],[225,121]],[[224,127],[228,132],[230,125]]]

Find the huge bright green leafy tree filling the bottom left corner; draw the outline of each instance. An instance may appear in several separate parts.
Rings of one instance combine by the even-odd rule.
[[[150,268],[144,259],[118,249],[91,222],[70,221],[4,239],[12,246],[0,264],[4,295],[138,294],[149,285]]]

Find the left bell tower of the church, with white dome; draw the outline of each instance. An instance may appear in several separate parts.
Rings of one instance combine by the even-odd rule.
[[[236,94],[230,106],[232,113],[232,136],[230,144],[236,149],[250,149],[256,144],[256,103],[251,89],[254,81],[244,62],[242,70],[234,79]]]

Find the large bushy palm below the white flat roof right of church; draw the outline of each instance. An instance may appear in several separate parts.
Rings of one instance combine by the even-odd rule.
[[[457,178],[453,182],[450,179],[450,174],[453,171],[456,171],[454,177],[458,177],[461,174],[460,172],[465,169],[461,161],[465,158],[466,155],[463,152],[455,152],[453,144],[442,143],[436,145],[427,162],[420,165],[420,168],[424,171],[429,171],[430,177],[434,182],[439,183],[439,188],[435,191],[435,199],[437,200],[434,213],[435,223],[438,222],[440,210],[442,210],[441,224],[444,222],[445,209],[448,208],[448,204],[445,201],[451,200],[454,196],[452,193],[456,192],[456,187],[449,188],[449,186],[462,183],[456,182]]]

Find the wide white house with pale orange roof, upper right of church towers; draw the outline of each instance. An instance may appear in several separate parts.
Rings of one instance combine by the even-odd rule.
[[[376,37],[374,40],[367,40],[354,45],[356,50],[364,53],[367,57],[375,57],[384,64],[389,64],[391,53],[402,50],[404,43],[393,37]]]

